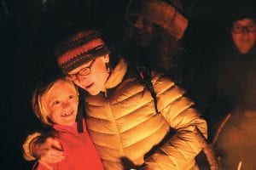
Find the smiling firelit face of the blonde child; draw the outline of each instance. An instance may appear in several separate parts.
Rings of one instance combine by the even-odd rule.
[[[78,113],[78,94],[66,82],[58,81],[46,94],[44,105],[52,122],[72,125]]]

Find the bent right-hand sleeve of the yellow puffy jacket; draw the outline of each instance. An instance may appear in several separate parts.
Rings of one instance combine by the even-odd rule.
[[[194,103],[183,97],[184,91],[173,82],[158,75],[152,81],[160,114],[175,133],[145,160],[145,165],[147,169],[191,169],[195,165],[195,156],[202,149],[195,137],[195,129],[207,138],[207,122],[191,107]]]

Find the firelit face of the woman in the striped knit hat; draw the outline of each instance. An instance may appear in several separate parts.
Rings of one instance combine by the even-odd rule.
[[[109,61],[109,56],[102,56],[96,58],[93,65],[90,67],[90,74],[86,76],[78,75],[77,79],[73,82],[80,88],[84,88],[89,94],[99,94],[105,88],[105,82],[107,82],[109,73],[106,68],[106,63]],[[92,61],[79,66],[68,74],[77,74],[84,67],[88,67]]]

